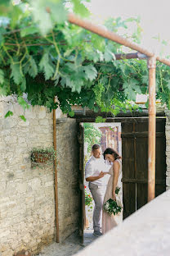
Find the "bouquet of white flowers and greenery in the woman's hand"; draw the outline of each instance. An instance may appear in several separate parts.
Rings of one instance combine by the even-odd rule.
[[[119,193],[119,188],[116,188],[117,190],[115,191],[116,194]],[[118,205],[114,199],[109,199],[105,202],[104,204],[104,210],[106,213],[110,214],[110,216],[114,213],[114,215],[118,215],[122,211],[122,207]]]

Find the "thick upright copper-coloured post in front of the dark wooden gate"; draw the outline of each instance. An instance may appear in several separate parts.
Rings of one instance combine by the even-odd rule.
[[[156,58],[148,57],[149,69],[149,136],[148,136],[148,202],[155,196],[155,69]]]

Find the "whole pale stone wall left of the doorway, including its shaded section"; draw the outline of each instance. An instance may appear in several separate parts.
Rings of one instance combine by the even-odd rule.
[[[5,119],[8,110],[14,115]],[[20,115],[25,115],[26,121],[22,121]],[[78,229],[75,124],[68,122],[68,126],[61,125],[61,131],[57,130],[61,239]],[[53,166],[33,168],[30,161],[31,149],[52,145],[52,114],[45,107],[30,107],[24,112],[14,98],[0,99],[1,256],[11,256],[21,249],[36,254],[42,245],[55,238]]]

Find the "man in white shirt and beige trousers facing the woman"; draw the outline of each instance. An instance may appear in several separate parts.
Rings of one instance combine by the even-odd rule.
[[[93,212],[93,235],[102,235],[100,229],[101,212],[104,198],[104,187],[106,185],[105,176],[105,161],[101,158],[101,146],[94,144],[92,146],[92,158],[87,161],[85,167],[85,179],[89,181],[89,189],[92,193],[92,198],[95,202]]]

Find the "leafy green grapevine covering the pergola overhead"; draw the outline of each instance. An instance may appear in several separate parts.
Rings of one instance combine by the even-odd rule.
[[[95,112],[126,112],[136,108],[136,94],[148,93],[148,71],[143,60],[115,61],[123,53],[118,43],[69,24],[69,11],[88,17],[81,0],[2,0],[0,3],[0,94],[16,94],[23,107],[29,103],[60,108],[74,115],[80,104]],[[137,19],[110,19],[105,26],[114,32],[136,23],[132,33],[140,43]],[[169,102],[170,69],[158,63],[157,98]],[[53,102],[54,96],[59,101]],[[7,116],[12,113],[7,113]],[[24,120],[25,117],[22,117]]]

